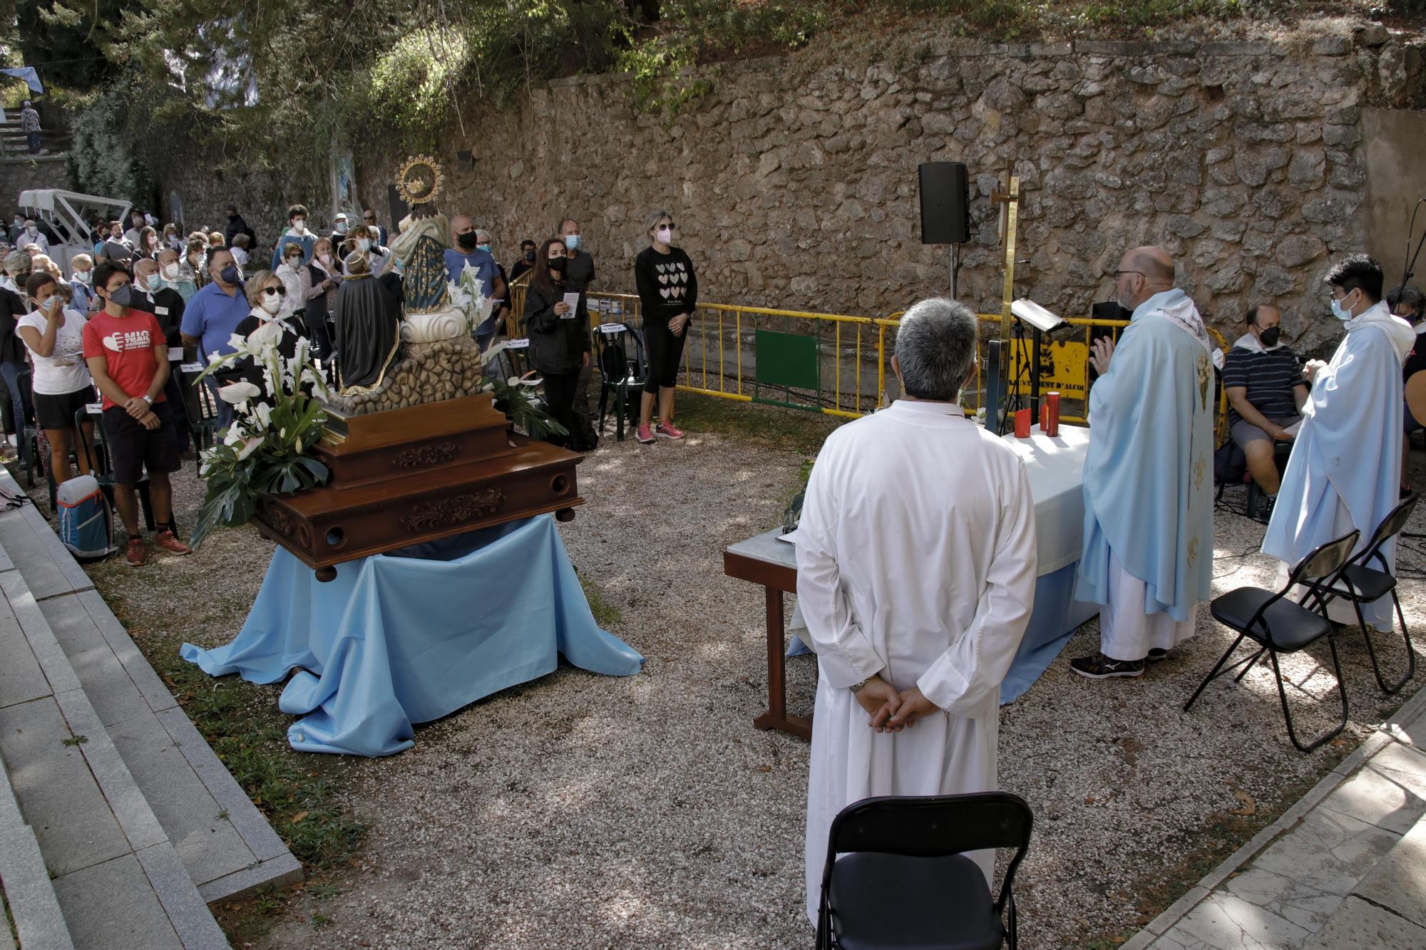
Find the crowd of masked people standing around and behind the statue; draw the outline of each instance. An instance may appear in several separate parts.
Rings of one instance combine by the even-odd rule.
[[[160,227],[153,214],[138,208],[125,220],[96,217],[86,221],[93,240],[78,250],[77,238],[20,211],[11,217],[9,233],[0,233],[0,375],[9,397],[0,402],[6,405],[6,431],[21,432],[24,422],[34,421],[48,449],[46,466],[56,484],[63,484],[93,468],[74,419],[78,409],[98,398],[106,441],[123,446],[116,456],[125,465],[117,459],[114,464],[120,496],[131,498],[133,482],[140,472],[148,472],[165,523],[155,543],[167,551],[177,551],[181,542],[168,523],[167,501],[160,502],[167,499],[167,488],[158,482],[167,482],[177,459],[195,448],[190,445],[177,365],[188,359],[207,364],[214,355],[232,352],[234,334],[275,320],[282,322],[285,339],[305,337],[315,357],[339,371],[338,304],[344,284],[369,274],[394,301],[401,298],[401,262],[375,211],[364,211],[359,224],[338,213],[331,231],[318,233],[308,224],[308,208],[294,204],[271,254],[260,250],[257,234],[237,205],[225,211],[221,230],[200,227],[188,233],[175,223]],[[697,305],[697,278],[692,258],[674,245],[674,228],[667,213],[652,214],[646,223],[649,247],[635,264],[643,322],[629,330],[642,334],[649,362],[636,432],[643,444],[683,438],[673,424],[673,388]],[[559,441],[580,451],[593,448],[588,295],[596,270],[580,223],[566,217],[543,242],[522,241],[509,270],[496,260],[491,234],[471,215],[451,218],[448,242],[446,278],[453,284],[473,278],[495,304],[489,317],[472,328],[476,342],[482,348],[493,345],[515,315],[515,332],[529,339],[528,359],[542,379],[548,411],[569,434]],[[61,247],[64,254],[58,252]],[[66,258],[68,272],[60,264]],[[519,314],[512,314],[512,285],[525,287]],[[576,302],[568,302],[576,297]],[[118,322],[124,320],[128,322]],[[120,332],[120,325],[127,330]],[[91,354],[90,327],[120,334],[116,339],[121,347],[103,344]],[[161,365],[148,367],[147,355],[131,351],[151,351]],[[106,362],[121,362],[124,369],[108,371]],[[26,372],[31,374],[29,387],[21,385]],[[232,407],[218,398],[222,382],[218,377],[205,379],[220,429],[232,421]],[[123,389],[123,398],[114,387]],[[150,422],[164,435],[153,435]],[[20,452],[27,451],[23,438],[16,442]],[[6,439],[0,451],[16,449]],[[71,454],[77,466],[70,462]],[[134,459],[137,468],[130,464]],[[130,532],[130,563],[143,563],[145,549],[137,523],[131,523],[133,506],[116,502],[116,508]]]

